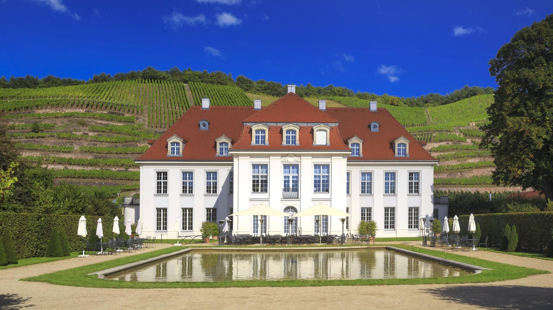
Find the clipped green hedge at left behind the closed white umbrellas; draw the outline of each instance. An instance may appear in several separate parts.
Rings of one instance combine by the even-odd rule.
[[[52,228],[63,228],[71,251],[82,249],[82,237],[77,236],[80,215],[0,212],[0,231],[12,233],[18,259],[44,256]],[[86,216],[86,231],[96,233],[98,216]],[[112,218],[102,218],[104,236],[112,236]]]

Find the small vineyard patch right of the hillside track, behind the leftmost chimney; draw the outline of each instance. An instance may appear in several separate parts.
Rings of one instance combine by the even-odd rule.
[[[234,85],[205,84],[189,82],[194,102],[200,105],[202,98],[209,98],[211,105],[253,106],[244,90]]]

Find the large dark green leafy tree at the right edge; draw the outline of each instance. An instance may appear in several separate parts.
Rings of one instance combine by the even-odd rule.
[[[489,61],[498,88],[483,144],[493,180],[553,199],[553,15],[520,29]]]

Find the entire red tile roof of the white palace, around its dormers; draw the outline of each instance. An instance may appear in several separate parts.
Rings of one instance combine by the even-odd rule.
[[[200,130],[199,122],[210,122],[209,130]],[[369,129],[379,123],[379,131]],[[340,123],[331,126],[330,145],[314,146],[312,126],[300,126],[299,145],[283,146],[281,126],[269,126],[268,145],[251,145],[251,126],[243,122]],[[182,156],[167,156],[166,139],[178,135],[187,141]],[[232,157],[216,156],[215,139],[226,135],[232,139],[231,150],[321,150],[349,151],[347,140],[358,136],[363,142],[363,157],[348,157],[350,161],[436,161],[416,142],[386,109],[327,108],[321,111],[298,95],[288,93],[259,110],[251,106],[192,106],[137,161],[232,161]],[[409,143],[409,157],[395,157],[393,141],[404,136]]]

